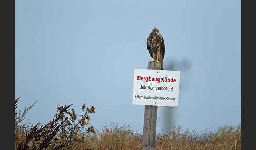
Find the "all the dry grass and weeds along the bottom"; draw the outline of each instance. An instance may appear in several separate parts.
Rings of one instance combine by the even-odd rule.
[[[70,111],[71,105],[60,105],[49,123],[23,124],[26,113],[35,103],[23,113],[17,113],[19,98],[15,100],[16,149],[142,149],[142,135],[131,130],[129,125],[111,123],[97,132],[93,126],[88,127],[88,115],[96,110],[93,105],[86,108],[83,104],[81,115],[77,115],[74,109]],[[225,126],[214,133],[205,131],[200,134],[178,127],[157,135],[155,145],[155,149],[241,149],[241,126]]]

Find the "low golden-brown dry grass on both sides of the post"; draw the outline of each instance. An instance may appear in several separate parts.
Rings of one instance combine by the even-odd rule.
[[[175,128],[157,135],[155,145],[155,149],[241,149],[241,126],[221,127],[214,133]],[[104,126],[97,135],[77,145],[76,150],[82,149],[142,149],[142,135],[130,130],[129,126]]]

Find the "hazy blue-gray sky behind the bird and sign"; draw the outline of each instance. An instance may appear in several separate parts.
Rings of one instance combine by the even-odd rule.
[[[16,1],[16,97],[32,123],[57,105],[95,105],[91,124],[130,125],[142,133],[144,106],[132,105],[133,69],[152,60],[152,27],[165,41],[164,67],[181,71],[176,126],[215,130],[241,124],[241,1]],[[185,81],[185,82],[184,82]],[[157,132],[163,128],[159,107]]]

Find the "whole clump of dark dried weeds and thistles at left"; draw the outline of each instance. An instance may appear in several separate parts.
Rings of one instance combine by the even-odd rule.
[[[21,97],[15,100],[15,148],[18,150],[28,149],[71,149],[77,143],[81,143],[84,137],[95,133],[94,127],[90,126],[85,130],[86,125],[89,124],[90,117],[88,114],[95,113],[95,106],[86,108],[82,105],[82,114],[77,115],[72,105],[57,106],[57,113],[53,119],[44,126],[40,123],[32,126],[22,124],[25,115],[32,106],[25,108],[24,112],[17,116],[17,103]],[[67,115],[67,116],[66,116]],[[78,119],[79,117],[79,119]]]

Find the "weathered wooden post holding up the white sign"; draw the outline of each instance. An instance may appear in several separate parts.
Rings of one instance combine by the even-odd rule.
[[[150,61],[147,64],[147,69],[161,70],[161,63]],[[157,108],[158,106],[145,105],[142,150],[155,149]]]

